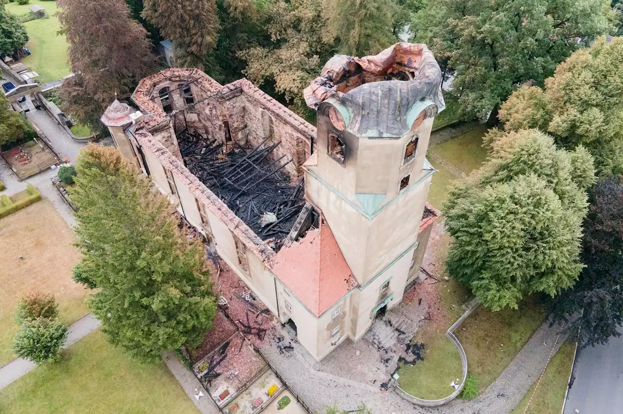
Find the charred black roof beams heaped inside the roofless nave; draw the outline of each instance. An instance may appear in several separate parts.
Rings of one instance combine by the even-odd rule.
[[[267,144],[270,138],[248,149],[236,143],[223,146],[186,130],[178,134],[178,143],[189,171],[262,240],[273,239],[278,249],[305,205],[304,183],[300,179],[292,184],[283,170],[291,161],[286,155],[275,157],[281,141]]]

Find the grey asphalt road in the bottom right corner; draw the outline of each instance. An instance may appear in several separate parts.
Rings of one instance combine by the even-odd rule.
[[[623,336],[579,350],[574,374],[564,414],[623,413]]]

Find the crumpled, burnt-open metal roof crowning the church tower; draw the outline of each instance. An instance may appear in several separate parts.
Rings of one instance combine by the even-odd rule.
[[[397,43],[374,56],[335,55],[304,95],[310,108],[324,101],[335,106],[356,136],[398,138],[425,108],[427,118],[444,110],[441,80],[426,45]]]

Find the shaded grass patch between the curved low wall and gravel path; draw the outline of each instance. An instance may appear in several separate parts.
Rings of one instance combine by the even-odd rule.
[[[465,349],[468,372],[478,377],[479,392],[502,374],[544,320],[543,309],[526,300],[516,311],[481,306],[463,322],[454,333]]]

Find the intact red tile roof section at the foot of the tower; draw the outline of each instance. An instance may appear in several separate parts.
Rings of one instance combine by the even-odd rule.
[[[277,253],[272,271],[316,317],[358,286],[322,216],[320,228]]]

